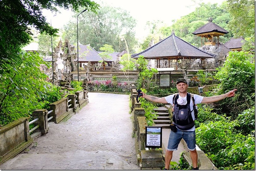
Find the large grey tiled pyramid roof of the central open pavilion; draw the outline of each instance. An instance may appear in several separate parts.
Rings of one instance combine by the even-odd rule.
[[[205,52],[190,43],[182,40],[172,33],[171,36],[159,41],[146,50],[131,55],[133,58],[139,58],[142,55],[146,59],[183,59],[183,58],[213,58],[215,55]]]

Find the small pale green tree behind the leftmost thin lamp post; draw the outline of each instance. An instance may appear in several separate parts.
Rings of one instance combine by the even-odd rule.
[[[45,56],[52,54],[52,39],[53,39],[53,50],[57,46],[57,38],[50,36],[45,33],[41,33],[38,36],[38,50],[42,51]]]

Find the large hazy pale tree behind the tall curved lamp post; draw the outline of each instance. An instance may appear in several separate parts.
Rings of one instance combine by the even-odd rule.
[[[82,13],[78,23],[78,35],[81,44],[90,44],[96,51],[104,44],[113,46],[116,52],[126,49],[120,42],[120,35],[124,35],[131,49],[136,45],[135,19],[122,9],[103,6],[97,14],[86,11]],[[71,44],[76,43],[76,22],[70,21],[63,29],[63,39],[67,38]]]

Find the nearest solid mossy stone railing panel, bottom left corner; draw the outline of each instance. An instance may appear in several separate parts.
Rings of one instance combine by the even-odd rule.
[[[28,121],[29,117],[24,117],[0,128],[0,164],[32,144]]]

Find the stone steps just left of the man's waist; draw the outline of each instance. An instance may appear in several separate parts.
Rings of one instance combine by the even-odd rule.
[[[168,108],[170,105],[165,105],[165,107],[154,108],[154,111],[157,112],[157,119],[153,120],[155,125],[154,126],[162,126],[162,128],[169,128],[170,129],[170,117]]]

